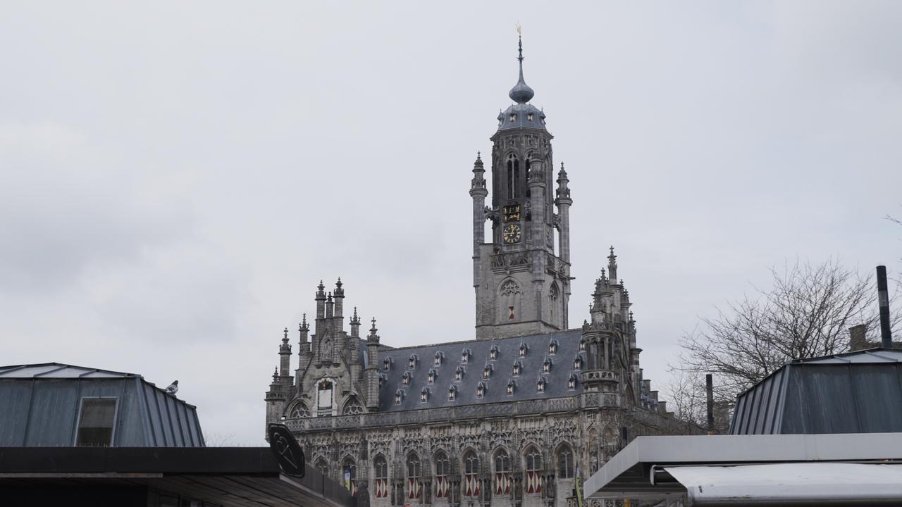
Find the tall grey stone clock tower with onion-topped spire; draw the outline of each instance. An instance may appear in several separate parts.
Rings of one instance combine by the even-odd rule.
[[[523,80],[522,41],[519,53],[520,79],[509,94],[515,104],[498,115],[491,138],[492,183],[487,185],[477,155],[470,188],[477,339],[567,328],[573,200],[563,165],[554,189],[554,136],[545,113],[529,104],[535,92]],[[485,205],[487,187],[491,206]],[[486,220],[492,221],[487,243]]]

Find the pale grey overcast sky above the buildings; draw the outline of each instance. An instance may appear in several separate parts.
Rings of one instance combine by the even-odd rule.
[[[0,364],[141,373],[263,443],[320,279],[382,343],[474,337],[471,199],[525,75],[615,245],[646,377],[768,267],[898,271],[899,2],[18,2],[0,16]],[[296,367],[292,363],[292,368]]]

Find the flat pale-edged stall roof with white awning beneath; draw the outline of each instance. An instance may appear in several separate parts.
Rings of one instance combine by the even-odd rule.
[[[902,480],[874,484],[887,477],[902,478],[902,433],[639,437],[589,477],[584,491],[593,498],[658,500],[688,495],[690,505],[735,505],[740,500],[756,505],[824,504],[827,501],[816,496],[818,488],[805,481],[826,476],[822,465],[852,463],[890,467],[870,468],[873,477],[867,479],[861,469],[847,470],[846,484],[826,486],[839,488],[827,501],[874,505],[902,498],[897,485]],[[775,474],[779,467],[774,466],[785,464],[797,466]],[[874,478],[878,475],[883,479]],[[704,497],[705,491],[712,496]],[[718,492],[732,496],[724,500],[716,496]]]

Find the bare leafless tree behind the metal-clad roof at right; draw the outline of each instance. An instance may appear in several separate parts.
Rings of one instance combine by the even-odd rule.
[[[871,276],[835,260],[770,271],[772,288],[717,309],[680,340],[677,369],[695,378],[714,373],[719,401],[734,400],[791,359],[846,351],[851,326],[865,324],[871,332],[879,326]]]

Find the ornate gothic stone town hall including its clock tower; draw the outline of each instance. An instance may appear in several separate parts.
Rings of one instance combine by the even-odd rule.
[[[642,378],[613,248],[589,315],[570,327],[573,199],[546,115],[529,104],[522,45],[518,60],[513,104],[470,183],[475,339],[395,348],[374,319],[364,336],[356,309],[345,327],[341,280],[328,291],[320,282],[294,373],[288,330],[281,339],[266,422],[283,422],[308,463],[366,488],[375,507],[566,507],[575,475],[628,439],[677,427]]]

